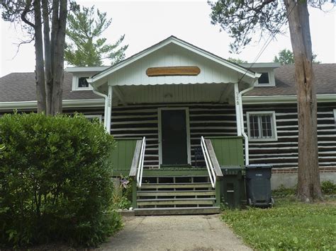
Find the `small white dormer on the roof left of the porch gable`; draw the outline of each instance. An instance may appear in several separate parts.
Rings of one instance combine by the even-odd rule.
[[[108,67],[110,66],[67,67],[65,71],[72,73],[72,91],[92,90],[92,86],[87,83],[86,78],[90,78]]]

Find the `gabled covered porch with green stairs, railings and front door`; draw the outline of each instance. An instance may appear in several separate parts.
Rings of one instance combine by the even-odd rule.
[[[133,178],[138,214],[218,211],[221,168],[244,166],[243,144],[248,164],[242,94],[258,77],[169,37],[88,78],[118,142],[114,175]]]

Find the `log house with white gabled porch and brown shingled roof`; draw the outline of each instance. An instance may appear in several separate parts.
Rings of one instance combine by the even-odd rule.
[[[336,64],[314,70],[320,175],[336,182]],[[0,78],[0,91],[0,114],[36,110],[33,73]],[[225,167],[267,163],[273,188],[296,184],[293,65],[238,65],[172,36],[113,66],[67,68],[63,107],[115,136],[138,214],[217,211]]]

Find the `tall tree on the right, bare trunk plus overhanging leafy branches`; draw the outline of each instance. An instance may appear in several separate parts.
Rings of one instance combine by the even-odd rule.
[[[313,1],[312,1],[313,2]],[[312,3],[310,2],[310,4]],[[322,3],[322,1],[320,1]],[[298,199],[322,199],[318,169],[317,102],[313,73],[313,53],[307,1],[220,0],[211,4],[211,23],[219,24],[234,38],[230,48],[237,51],[260,33],[281,34],[289,23],[295,62],[298,96]]]

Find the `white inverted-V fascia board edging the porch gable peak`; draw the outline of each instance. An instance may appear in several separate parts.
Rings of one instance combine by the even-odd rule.
[[[205,50],[195,47],[187,42],[184,42],[182,40],[179,40],[177,37],[169,37],[166,40],[163,40],[162,42],[159,42],[157,45],[153,47],[149,47],[147,49],[144,49],[142,52],[139,52],[138,54],[133,55],[132,57],[129,57],[128,59],[125,59],[123,62],[120,62],[116,64],[115,66],[112,66],[110,69],[103,71],[99,74],[96,74],[92,78],[88,78],[88,83],[94,83],[95,81],[99,81],[99,79],[104,78],[108,76],[109,74],[112,74],[114,71],[118,71],[118,69],[121,69],[128,64],[131,64],[138,59],[141,59],[142,57],[147,56],[147,54],[150,54],[152,52],[155,52],[157,49],[160,49],[166,45],[169,45],[170,43],[174,43],[175,45],[179,45],[181,47],[184,47],[185,49],[189,49],[191,52],[195,52],[196,54],[199,54],[203,57],[206,57],[208,59],[211,59],[213,62],[217,62],[218,64],[221,64],[223,66],[227,66],[230,69],[233,69],[235,71],[240,72],[241,74],[244,74],[245,76],[249,76],[250,78],[259,78],[259,74],[254,73],[253,71],[249,71],[245,69],[243,66],[240,66],[239,64],[234,64],[232,62],[229,62],[225,59],[222,59],[215,54],[212,54],[210,52],[206,52]]]

